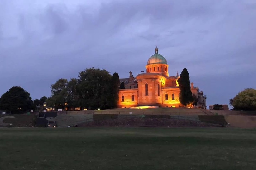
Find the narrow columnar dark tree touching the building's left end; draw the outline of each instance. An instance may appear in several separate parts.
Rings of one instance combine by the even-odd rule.
[[[110,80],[110,107],[111,108],[117,108],[117,102],[118,102],[118,93],[119,93],[119,86],[120,79],[117,73],[114,73]]]

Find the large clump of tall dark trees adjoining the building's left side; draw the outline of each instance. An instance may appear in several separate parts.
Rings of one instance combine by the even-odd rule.
[[[105,69],[89,68],[79,72],[78,79],[61,78],[51,85],[48,107],[117,108],[120,79]]]

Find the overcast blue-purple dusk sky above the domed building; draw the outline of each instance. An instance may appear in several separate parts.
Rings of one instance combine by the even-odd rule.
[[[49,97],[90,67],[137,76],[157,45],[170,76],[187,68],[207,105],[228,104],[256,88],[255,19],[255,0],[0,0],[0,95]]]

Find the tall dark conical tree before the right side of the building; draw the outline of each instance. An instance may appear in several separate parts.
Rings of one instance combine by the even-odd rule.
[[[184,68],[178,79],[179,88],[180,88],[180,103],[188,106],[194,102],[194,98],[191,92],[189,73],[186,68]]]

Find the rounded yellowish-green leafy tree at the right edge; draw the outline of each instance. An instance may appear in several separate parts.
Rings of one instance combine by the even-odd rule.
[[[233,110],[256,110],[256,90],[246,88],[229,100]]]

